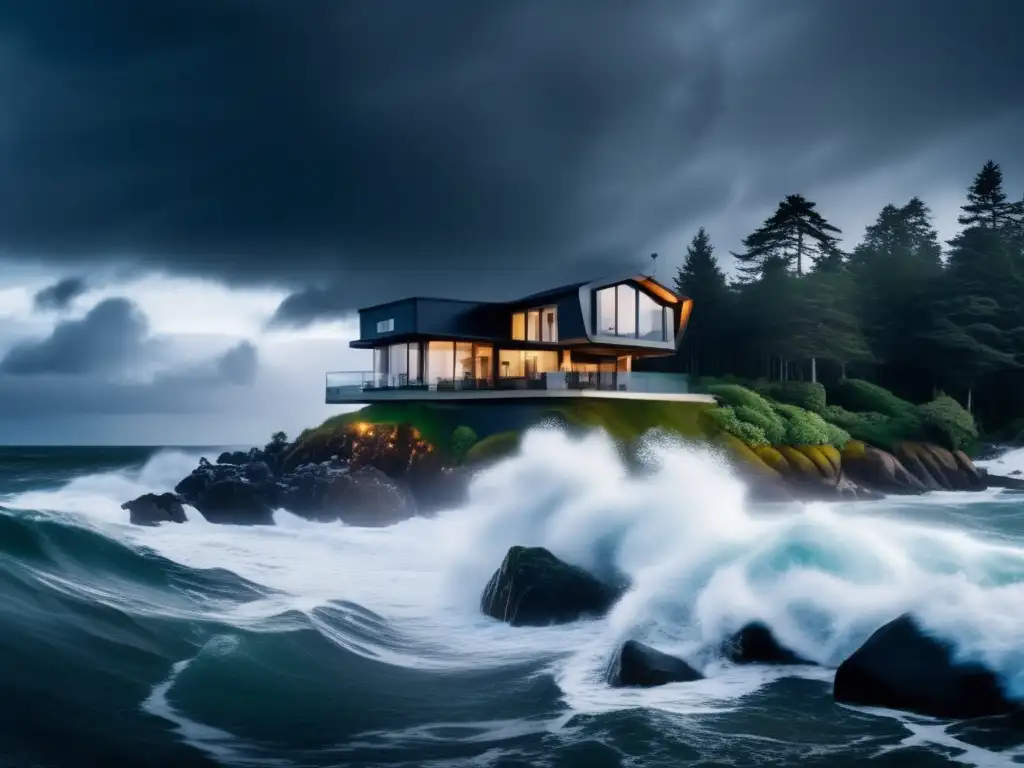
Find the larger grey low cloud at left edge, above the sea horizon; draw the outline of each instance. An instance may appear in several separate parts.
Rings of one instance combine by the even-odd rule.
[[[148,324],[127,299],[100,302],[81,319],[57,324],[44,339],[15,344],[0,358],[0,374],[109,375],[138,361]]]

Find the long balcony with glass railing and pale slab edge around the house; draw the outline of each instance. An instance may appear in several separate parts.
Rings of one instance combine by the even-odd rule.
[[[502,400],[529,397],[624,397],[633,399],[705,400],[689,393],[685,374],[592,373],[555,371],[525,377],[498,379],[410,380],[370,371],[327,375],[328,403],[364,403],[385,400]]]

